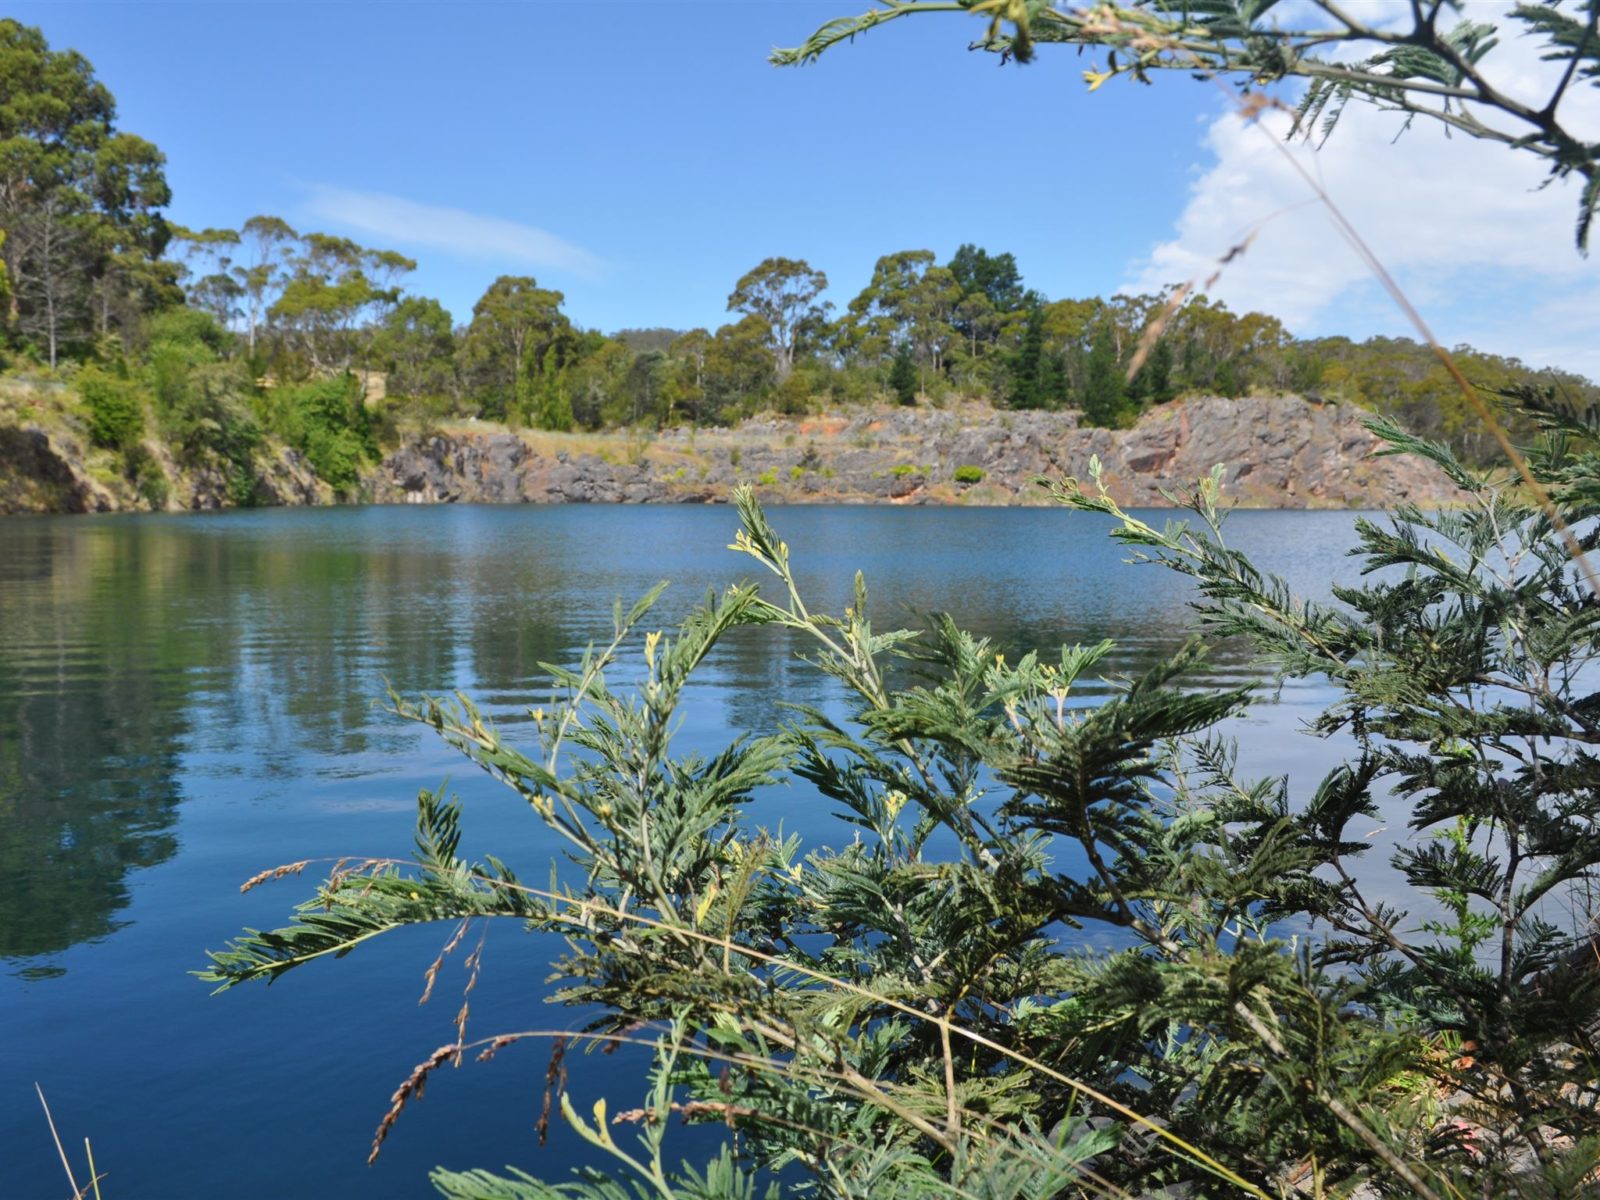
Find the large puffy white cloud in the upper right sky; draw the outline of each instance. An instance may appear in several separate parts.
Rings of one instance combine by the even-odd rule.
[[[1482,8],[1475,18],[1488,16]],[[1502,34],[1509,34],[1502,24]],[[1507,91],[1533,96],[1552,64],[1538,43],[1509,38],[1485,61]],[[1563,118],[1594,136],[1600,90],[1574,85]],[[1286,114],[1259,125],[1213,120],[1203,166],[1171,240],[1130,267],[1125,288],[1152,291],[1205,278],[1251,230],[1211,294],[1234,309],[1272,312],[1299,334],[1411,334],[1394,302],[1336,232],[1283,154]],[[1534,365],[1600,379],[1600,227],[1597,253],[1574,248],[1578,182],[1542,187],[1547,171],[1510,150],[1352,101],[1320,150],[1291,152],[1317,178],[1446,346],[1470,341]]]

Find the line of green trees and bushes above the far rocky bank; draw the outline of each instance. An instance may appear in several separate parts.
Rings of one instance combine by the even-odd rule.
[[[877,259],[840,309],[827,275],[768,258],[733,283],[715,330],[578,325],[565,296],[501,275],[456,322],[406,290],[416,262],[259,214],[184,229],[165,157],[115,128],[83,56],[0,21],[0,354],[72,371],[101,445],[139,475],[149,434],[243,480],[264,435],[354,483],[397,422],[478,418],[550,430],[731,424],[758,411],[986,398],[1117,427],[1186,394],[1294,390],[1366,405],[1472,461],[1493,450],[1422,347],[1296,339],[1275,317],[1197,294],[1130,374],[1171,291],[1050,299],[1011,253],[962,245]],[[1464,350],[1485,387],[1592,386]],[[382,379],[382,403],[374,405]],[[150,474],[152,486],[158,480]]]

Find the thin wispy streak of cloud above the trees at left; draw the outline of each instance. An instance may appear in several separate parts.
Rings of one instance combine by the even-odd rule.
[[[307,213],[400,250],[427,246],[507,267],[565,270],[584,278],[605,269],[595,254],[538,226],[421,205],[400,195],[312,184]]]

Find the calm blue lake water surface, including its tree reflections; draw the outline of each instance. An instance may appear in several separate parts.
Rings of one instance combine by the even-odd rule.
[[[774,509],[813,608],[859,568],[877,624],[947,610],[1013,651],[1115,637],[1138,670],[1189,632],[1182,579],[1123,565],[1109,522],[1045,509]],[[562,1178],[533,1142],[544,1059],[445,1072],[365,1165],[389,1093],[453,1037],[459,968],[418,1006],[437,930],[370,944],[269,987],[210,997],[187,973],[242,926],[283,923],[309,880],[238,893],[307,856],[403,854],[414,797],[446,776],[464,853],[526,877],[555,846],[515,797],[373,706],[462,690],[504,725],[544,702],[541,661],[610,630],[611,602],[672,579],[664,618],[747,574],[726,507],[366,507],[0,522],[0,1147],[6,1195],[64,1176],[90,1136],[107,1197],[434,1195],[438,1163]],[[1296,589],[1349,578],[1349,514],[1237,514],[1232,539]],[[1254,677],[1219,651],[1213,680]],[[837,698],[771,632],[744,630],[691,693],[685,746],[771,728],[778,701]],[[1237,723],[1253,773],[1302,787],[1338,747],[1298,733],[1326,696],[1283,691]],[[774,789],[758,819],[838,837]],[[536,1002],[552,944],[496,928],[472,1029],[576,1022]],[[574,1099],[642,1094],[638,1061],[573,1062]],[[82,1174],[82,1173],[80,1173]],[[80,1178],[80,1182],[83,1179]]]

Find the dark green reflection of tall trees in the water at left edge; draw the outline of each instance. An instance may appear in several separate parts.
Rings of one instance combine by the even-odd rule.
[[[34,525],[8,542],[0,958],[27,958],[115,930],[128,872],[176,851],[184,675],[205,651],[150,619],[170,555]]]

